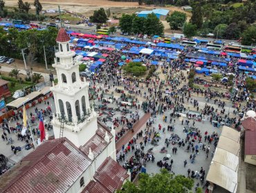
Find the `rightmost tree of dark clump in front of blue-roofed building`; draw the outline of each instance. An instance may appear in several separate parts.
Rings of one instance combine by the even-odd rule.
[[[156,17],[156,14],[148,14],[145,22],[145,34],[149,36],[158,35],[163,36],[163,30],[165,27],[163,23]]]

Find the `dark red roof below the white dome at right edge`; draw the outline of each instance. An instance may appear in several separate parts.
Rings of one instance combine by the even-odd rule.
[[[244,139],[244,154],[256,155],[256,130],[246,130]]]

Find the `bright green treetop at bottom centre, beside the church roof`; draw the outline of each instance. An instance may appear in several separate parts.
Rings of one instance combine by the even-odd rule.
[[[174,176],[166,169],[161,169],[161,173],[149,174],[141,173],[138,179],[138,186],[127,181],[122,190],[118,193],[144,193],[144,192],[169,192],[169,193],[185,193],[192,190],[194,181],[182,175]]]

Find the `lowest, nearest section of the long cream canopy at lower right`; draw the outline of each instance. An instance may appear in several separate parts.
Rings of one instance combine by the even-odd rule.
[[[206,180],[229,192],[237,192],[237,172],[217,162],[212,162]]]

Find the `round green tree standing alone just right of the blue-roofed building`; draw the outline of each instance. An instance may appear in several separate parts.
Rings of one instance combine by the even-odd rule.
[[[183,26],[187,19],[187,15],[183,12],[174,11],[170,16],[167,16],[166,21],[170,24],[171,29],[178,30]]]

